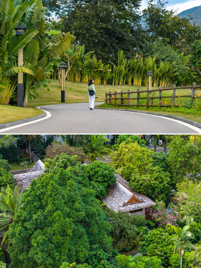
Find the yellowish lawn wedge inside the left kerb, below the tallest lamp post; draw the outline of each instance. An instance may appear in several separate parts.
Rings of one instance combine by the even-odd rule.
[[[42,113],[40,109],[27,107],[17,107],[10,105],[0,105],[0,124],[14,122],[21,119],[26,119],[34,116],[39,116]]]

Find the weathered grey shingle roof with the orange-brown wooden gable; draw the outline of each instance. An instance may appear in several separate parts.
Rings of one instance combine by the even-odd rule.
[[[111,186],[110,193],[101,199],[109,209],[112,209],[116,212],[129,212],[135,209],[147,208],[155,204],[155,202],[146,195],[133,191],[133,189],[128,186],[128,181],[126,181],[116,172],[115,176],[117,181]],[[139,201],[136,200],[137,202],[133,204],[124,205],[124,203],[128,202],[133,194]]]

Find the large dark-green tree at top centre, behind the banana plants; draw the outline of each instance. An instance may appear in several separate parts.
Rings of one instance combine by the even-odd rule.
[[[65,29],[74,32],[86,51],[95,51],[97,59],[106,64],[108,61],[117,64],[118,49],[123,49],[128,58],[134,56],[133,36],[139,21],[139,0],[129,3],[125,0],[91,3],[68,0],[65,4],[68,10],[68,14],[63,15]]]

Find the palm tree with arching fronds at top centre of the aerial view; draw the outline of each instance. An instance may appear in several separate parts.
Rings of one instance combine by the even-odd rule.
[[[90,163],[95,161],[96,157],[104,159],[101,154],[111,152],[111,149],[107,148],[108,144],[103,145],[104,142],[108,142],[108,140],[109,139],[105,138],[105,135],[91,135],[91,141],[86,147]]]

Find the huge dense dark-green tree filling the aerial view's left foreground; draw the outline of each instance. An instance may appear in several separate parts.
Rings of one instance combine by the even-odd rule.
[[[53,268],[64,261],[93,268],[110,265],[111,227],[94,196],[81,178],[62,168],[56,175],[33,180],[8,231],[11,265]]]

